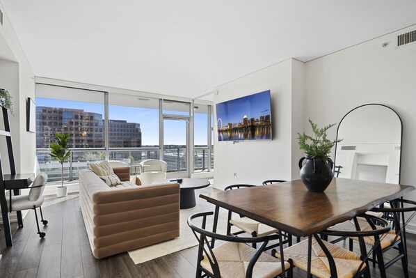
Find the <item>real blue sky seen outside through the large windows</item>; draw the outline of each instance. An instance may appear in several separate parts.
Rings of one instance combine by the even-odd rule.
[[[36,98],[36,106],[83,109],[84,111],[102,114],[104,105],[90,102]],[[142,145],[159,145],[159,110],[130,106],[109,106],[111,120],[125,120],[129,123],[140,123]],[[163,137],[165,144],[186,145],[186,123],[184,121],[165,120]],[[195,145],[207,145],[207,114],[195,113]]]

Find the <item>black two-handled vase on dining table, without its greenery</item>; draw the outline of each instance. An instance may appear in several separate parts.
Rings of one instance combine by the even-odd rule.
[[[303,160],[306,160],[303,164]],[[310,158],[302,157],[299,160],[299,169],[301,169],[301,179],[307,190],[310,192],[323,192],[333,180],[333,163],[323,161],[322,157]]]

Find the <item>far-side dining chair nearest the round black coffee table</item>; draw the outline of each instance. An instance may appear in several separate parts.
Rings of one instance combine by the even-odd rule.
[[[225,187],[224,191],[238,190],[243,187],[255,187],[255,186],[257,185],[246,185],[246,184],[229,185]],[[232,226],[236,226],[239,229],[239,231],[232,232],[231,231]],[[256,220],[245,217],[244,215],[239,215],[239,218],[233,218],[232,211],[228,210],[227,235],[237,236],[241,233],[248,233],[249,235],[252,235],[253,237],[258,237],[258,236],[264,236],[264,235],[271,235],[272,233],[278,233],[278,231],[279,231],[278,229],[275,229],[261,222],[257,222]],[[285,240],[282,241],[282,244],[287,243],[290,246],[292,243],[291,236],[285,233],[284,237],[285,237]],[[266,247],[266,250],[276,247],[278,245],[280,245],[280,242]],[[257,246],[256,242],[253,242],[253,247],[255,248],[256,246]]]

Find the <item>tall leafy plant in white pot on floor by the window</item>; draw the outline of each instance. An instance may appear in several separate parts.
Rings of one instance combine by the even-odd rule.
[[[56,190],[56,196],[67,196],[67,187],[63,186],[63,162],[67,160],[71,155],[70,147],[68,146],[68,139],[70,134],[55,134],[55,143],[51,144],[51,157],[54,160],[58,160],[61,163],[61,186],[58,186]]]

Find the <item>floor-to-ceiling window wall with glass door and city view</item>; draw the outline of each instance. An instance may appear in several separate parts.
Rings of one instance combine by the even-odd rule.
[[[105,159],[130,165],[163,159],[169,172],[183,175],[210,171],[211,116],[211,105],[194,107],[191,101],[36,84],[38,167],[49,181],[61,180],[61,164],[51,159],[49,146],[56,133],[69,133],[72,155],[64,180],[77,180],[79,170]]]

